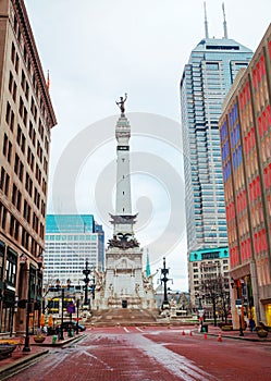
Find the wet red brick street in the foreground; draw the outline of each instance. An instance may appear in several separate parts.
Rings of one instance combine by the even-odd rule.
[[[184,334],[185,333],[185,334]],[[50,348],[11,381],[271,380],[270,342],[198,334],[182,328],[95,328]]]

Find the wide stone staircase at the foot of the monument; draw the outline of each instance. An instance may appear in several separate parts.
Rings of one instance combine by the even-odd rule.
[[[158,310],[112,308],[94,310],[88,323],[96,327],[151,325],[157,322]]]

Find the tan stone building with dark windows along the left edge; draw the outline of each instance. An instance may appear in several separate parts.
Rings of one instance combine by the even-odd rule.
[[[0,1],[0,330],[38,325],[51,128],[57,124],[23,0]],[[19,304],[19,307],[21,304]],[[34,307],[36,307],[34,309]]]

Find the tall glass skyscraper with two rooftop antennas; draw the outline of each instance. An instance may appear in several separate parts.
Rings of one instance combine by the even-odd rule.
[[[225,19],[223,38],[209,38],[207,17],[205,26],[206,37],[193,49],[181,79],[188,261],[192,251],[227,246],[218,123],[238,70],[252,57],[227,38]],[[189,288],[193,293],[190,279]]]

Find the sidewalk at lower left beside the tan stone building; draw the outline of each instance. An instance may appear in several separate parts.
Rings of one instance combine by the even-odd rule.
[[[46,355],[49,352],[49,347],[62,347],[78,337],[81,337],[82,334],[75,334],[74,337],[64,337],[62,341],[57,341],[56,344],[52,344],[52,335],[46,336],[46,340],[42,344],[37,344],[34,342],[33,335],[29,336],[29,347],[30,352],[23,352],[24,344],[17,345],[15,351],[12,353],[11,356],[3,358],[0,360],[0,379],[1,373],[9,370],[10,368],[16,367],[19,365],[22,365],[24,362],[28,362],[33,360],[34,358],[37,358],[39,356]],[[8,339],[8,337],[7,337]]]

